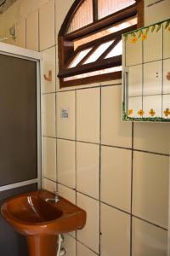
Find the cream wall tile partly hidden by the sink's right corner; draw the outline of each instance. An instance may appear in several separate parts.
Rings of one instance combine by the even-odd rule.
[[[77,230],[77,239],[99,253],[99,201],[77,193],[77,206],[87,212],[86,225],[82,230]]]

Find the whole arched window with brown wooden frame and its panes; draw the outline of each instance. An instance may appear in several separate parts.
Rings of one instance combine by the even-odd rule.
[[[144,0],[76,0],[59,31],[60,87],[122,77],[122,33],[144,26]]]

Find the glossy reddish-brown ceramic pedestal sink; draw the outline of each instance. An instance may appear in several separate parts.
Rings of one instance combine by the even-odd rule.
[[[56,256],[58,235],[82,229],[86,212],[47,190],[18,195],[3,203],[1,212],[14,230],[26,236],[31,256]]]

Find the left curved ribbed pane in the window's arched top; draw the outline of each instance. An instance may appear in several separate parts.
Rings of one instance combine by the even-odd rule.
[[[65,0],[64,0],[65,1]],[[74,32],[82,26],[87,26],[93,22],[93,0],[85,0],[82,5],[77,9],[77,13],[74,15],[71,21],[67,33]]]

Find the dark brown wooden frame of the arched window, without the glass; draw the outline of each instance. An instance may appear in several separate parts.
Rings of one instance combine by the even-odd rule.
[[[59,37],[58,37],[58,49],[59,49],[59,87],[64,88],[68,86],[76,86],[81,84],[92,84],[95,82],[104,82],[108,80],[114,79],[122,79],[122,72],[114,72],[114,73],[105,73],[94,75],[87,78],[82,79],[71,79],[68,81],[64,81],[65,78],[74,77],[75,75],[82,73],[90,73],[97,70],[110,68],[110,67],[118,67],[122,66],[122,55],[118,55],[115,57],[111,57],[105,59],[105,55],[108,53],[108,50],[111,50],[114,44],[117,44],[121,40],[121,34],[125,32],[133,31],[136,28],[144,26],[144,0],[135,0],[136,3],[127,7],[126,9],[122,9],[113,15],[106,16],[103,19],[98,20],[98,0],[93,0],[93,19],[94,22],[89,24],[88,26],[84,26],[77,31],[67,33],[68,27],[71,24],[71,20],[77,12],[77,9],[81,6],[84,0],[76,0],[68,14],[65,17],[65,20],[60,28]],[[93,42],[89,42],[88,44],[80,45],[76,50],[74,50],[74,40],[81,39],[89,35],[93,35],[96,32],[101,31],[102,29],[109,28],[118,22],[123,22],[123,20],[132,18],[137,15],[138,24],[134,26],[129,26],[121,31],[111,33],[103,38],[99,38],[94,40]],[[89,55],[94,52],[99,44],[111,41],[111,39],[115,39],[114,43],[104,52],[103,55],[99,56],[97,61],[88,64],[82,64]],[[77,67],[69,68],[69,63],[74,60],[75,56],[78,52],[83,49],[88,49],[92,47],[88,55],[86,55],[82,61],[77,65]]]

